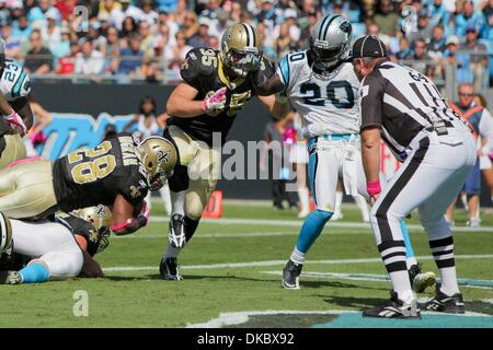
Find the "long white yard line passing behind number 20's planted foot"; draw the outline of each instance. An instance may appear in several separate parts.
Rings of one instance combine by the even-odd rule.
[[[433,260],[432,256],[419,256],[419,260]],[[456,259],[490,259],[493,254],[483,255],[456,255]],[[365,258],[365,259],[331,259],[331,260],[310,260],[309,264],[322,265],[343,265],[343,264],[368,264],[381,262],[380,258]],[[286,260],[265,260],[265,261],[246,261],[246,262],[226,262],[226,264],[210,264],[210,265],[184,265],[182,270],[208,270],[208,269],[225,269],[225,268],[248,268],[248,267],[265,267],[265,266],[283,266]],[[158,270],[158,266],[121,266],[107,267],[103,269],[110,271],[149,271]]]

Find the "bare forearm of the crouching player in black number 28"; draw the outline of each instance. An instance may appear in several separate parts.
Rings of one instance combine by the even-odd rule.
[[[136,232],[140,228],[147,225],[148,209],[144,203],[135,208],[122,195],[117,195],[115,203],[113,205],[113,221],[111,230],[118,236]],[[138,214],[136,211],[140,209]],[[147,213],[146,213],[147,211]]]

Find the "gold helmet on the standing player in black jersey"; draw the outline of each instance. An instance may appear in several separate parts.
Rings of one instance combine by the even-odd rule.
[[[260,68],[262,39],[252,25],[234,24],[222,34],[220,51],[226,68],[245,78],[249,72]]]

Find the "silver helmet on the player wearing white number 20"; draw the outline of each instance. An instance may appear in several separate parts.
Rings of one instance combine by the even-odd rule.
[[[340,14],[329,13],[313,27],[310,50],[313,67],[322,75],[329,74],[341,61],[351,56],[351,22]]]

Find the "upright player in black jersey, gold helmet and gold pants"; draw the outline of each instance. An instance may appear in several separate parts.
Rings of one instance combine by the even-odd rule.
[[[181,279],[176,257],[216,187],[220,154],[213,140],[226,141],[237,114],[253,96],[275,117],[288,112],[287,104],[275,104],[273,93],[278,91],[266,89],[275,70],[263,57],[261,42],[253,26],[239,23],[226,30],[220,50],[190,50],[181,69],[183,81],[168,100],[171,118],[164,138],[175,144],[177,162],[169,182],[173,203],[169,246],[160,264],[165,280]]]

